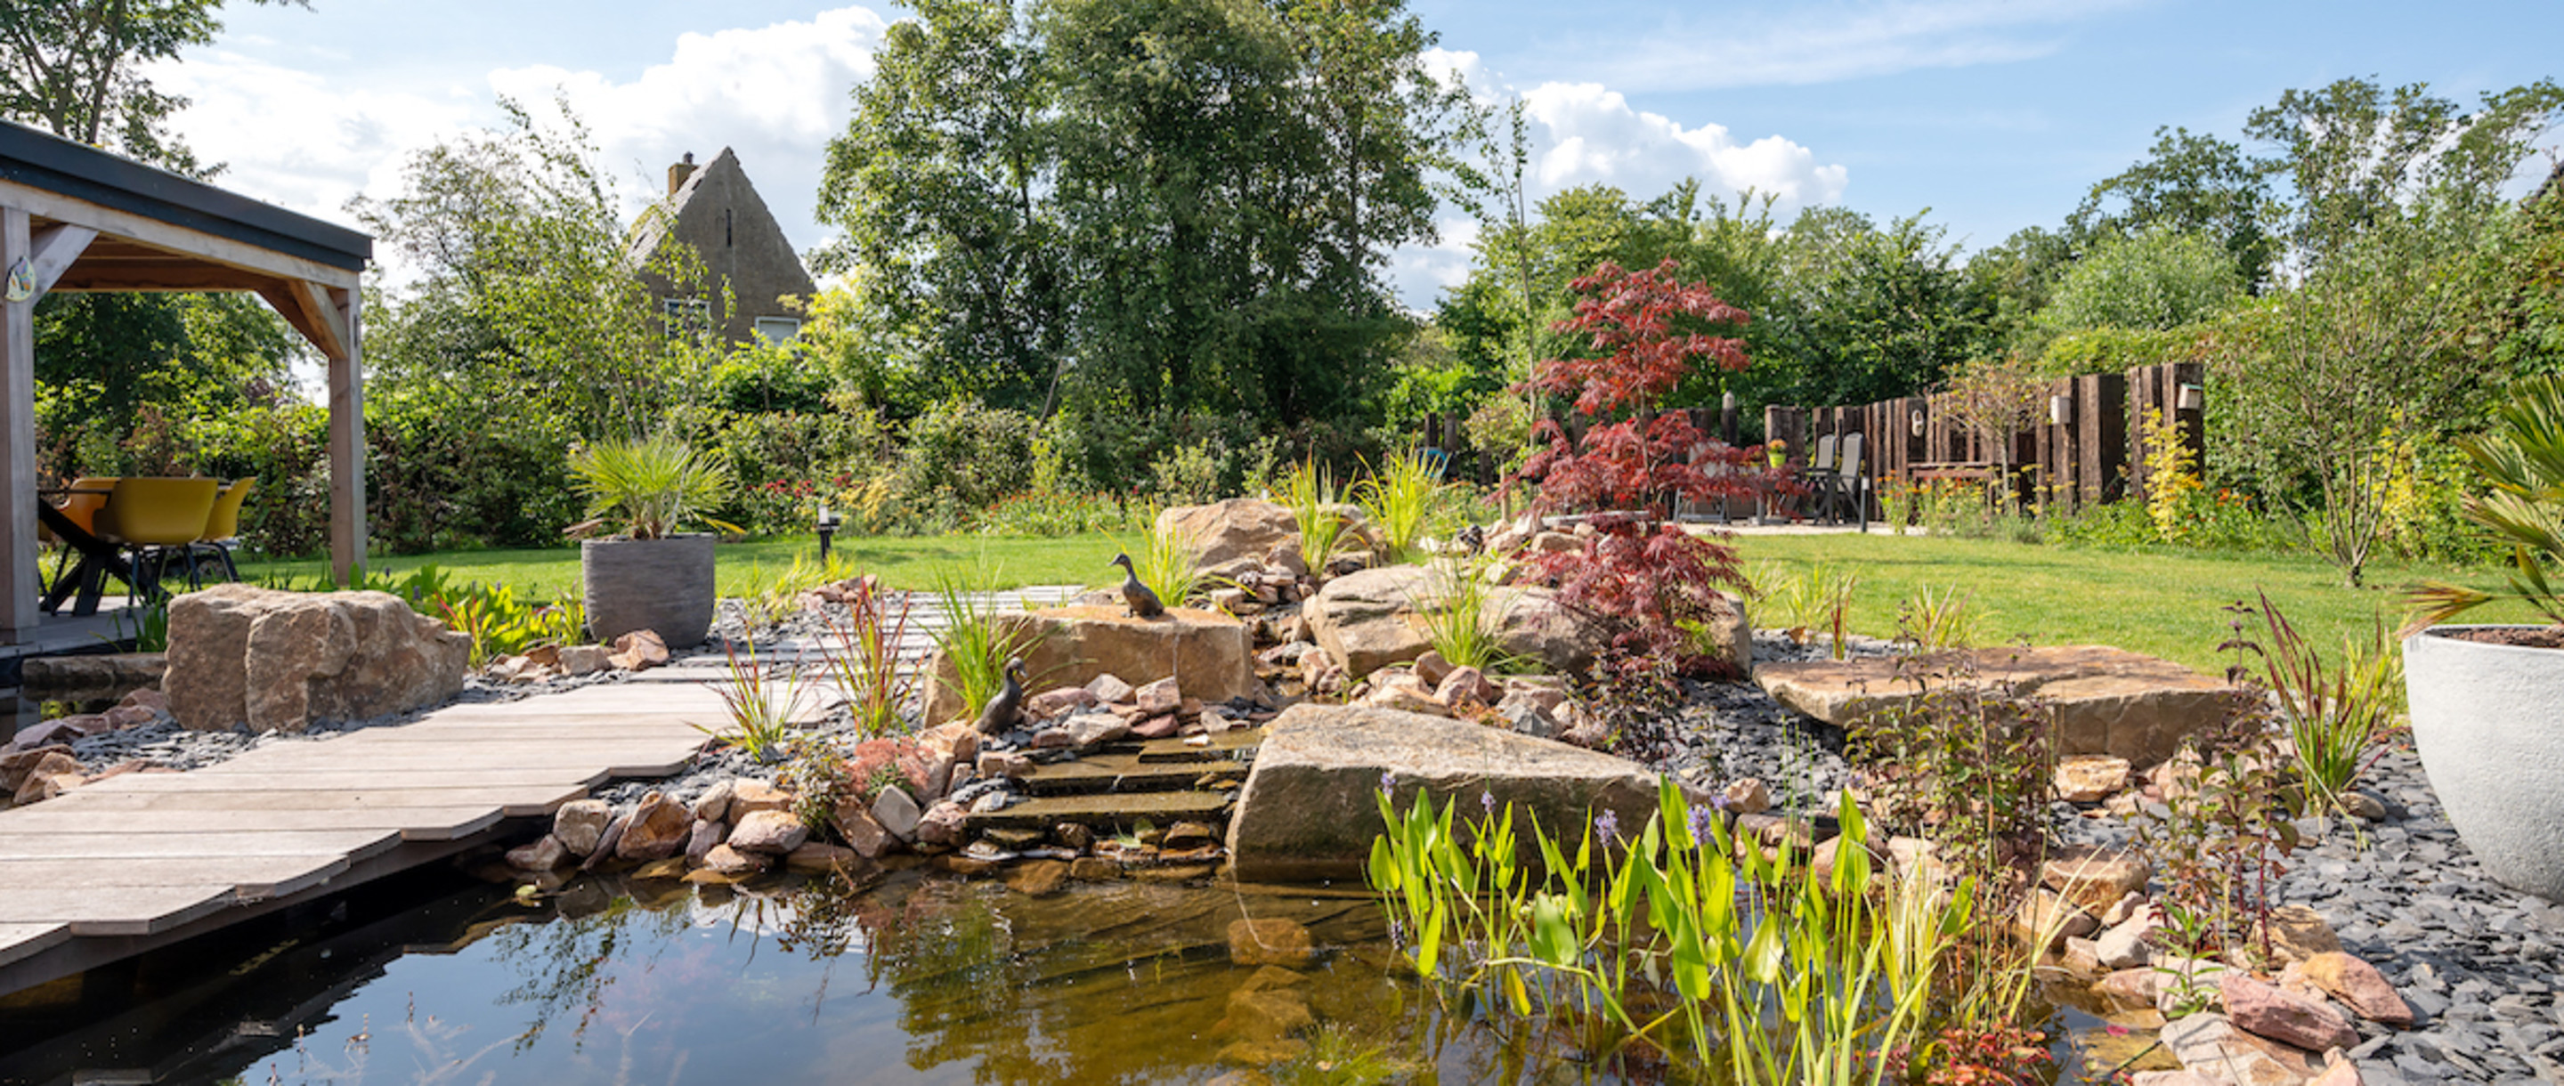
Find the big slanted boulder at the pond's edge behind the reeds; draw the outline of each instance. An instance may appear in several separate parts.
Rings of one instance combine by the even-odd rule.
[[[1656,774],[1626,758],[1418,712],[1295,704],[1267,725],[1228,820],[1238,881],[1359,879],[1382,776],[1400,809],[1431,794],[1477,817],[1492,799],[1515,807],[1518,827],[1538,817],[1569,840],[1605,809],[1623,835],[1656,812]],[[1528,832],[1523,861],[1538,861]]]

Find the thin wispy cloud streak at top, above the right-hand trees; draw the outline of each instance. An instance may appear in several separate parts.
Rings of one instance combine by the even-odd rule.
[[[1628,90],[1710,90],[1861,79],[1913,69],[2008,64],[2064,46],[2064,26],[2151,0],[1887,0],[1790,5],[1785,15],[1720,8],[1715,23],[1615,38],[1608,64]]]

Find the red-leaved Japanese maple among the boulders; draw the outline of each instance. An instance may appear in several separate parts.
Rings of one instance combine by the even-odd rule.
[[[1549,448],[1531,456],[1520,476],[1538,482],[1544,512],[1592,512],[1595,533],[1582,551],[1538,558],[1559,599],[1618,625],[1613,648],[1626,661],[1667,658],[1682,674],[1715,674],[1731,663],[1692,648],[1685,625],[1715,615],[1720,584],[1744,587],[1736,548],[1667,520],[1677,497],[1751,497],[1754,453],[1710,441],[1685,412],[1659,412],[1656,402],[1697,361],[1746,369],[1741,341],[1677,330],[1741,325],[1746,312],[1702,282],[1674,279],[1674,266],[1626,272],[1605,261],[1574,282],[1585,295],[1577,315],[1549,330],[1587,336],[1592,356],[1541,361],[1528,389],[1574,397],[1592,425],[1577,443],[1556,420],[1544,420],[1536,438]]]

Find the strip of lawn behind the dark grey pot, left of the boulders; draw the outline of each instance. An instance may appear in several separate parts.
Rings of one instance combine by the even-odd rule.
[[[1118,584],[1120,571],[1108,566],[1118,551],[1146,546],[1146,533],[1087,533],[1061,538],[1008,538],[1008,535],[926,535],[926,538],[838,538],[831,556],[851,574],[879,574],[892,589],[928,592],[941,576],[977,574],[982,563],[1003,574],[1000,589],[1026,584]],[[772,581],[777,571],[818,558],[818,535],[787,535],[754,543],[723,543],[720,594],[731,597],[756,584],[759,571]],[[508,584],[520,599],[562,599],[579,584],[577,548],[544,551],[444,551],[385,558],[372,569],[405,574],[433,563],[454,581]],[[318,581],[328,574],[328,561],[241,561],[241,579],[290,576],[297,584]]]

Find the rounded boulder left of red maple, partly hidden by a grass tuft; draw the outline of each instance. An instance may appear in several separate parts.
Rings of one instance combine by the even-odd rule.
[[[1310,635],[1346,676],[1361,679],[1390,663],[1408,663],[1433,648],[1423,607],[1451,592],[1449,576],[1428,566],[1382,566],[1326,581],[1303,615]],[[1592,620],[1559,604],[1544,587],[1479,587],[1495,617],[1497,645],[1551,674],[1577,674],[1595,663],[1610,638]]]

